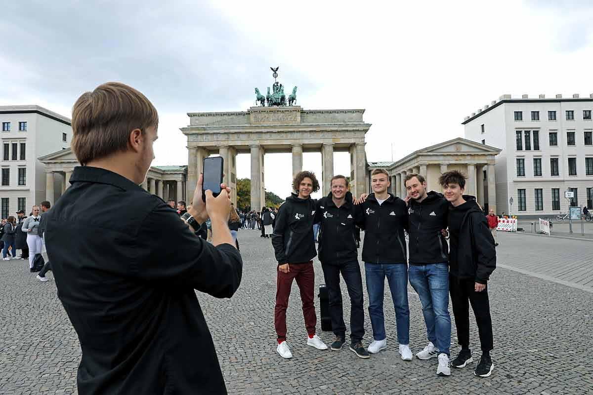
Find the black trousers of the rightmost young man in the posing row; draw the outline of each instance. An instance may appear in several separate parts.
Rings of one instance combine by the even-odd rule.
[[[478,333],[482,351],[493,348],[492,319],[490,318],[490,302],[488,300],[488,286],[482,292],[474,290],[476,282],[473,280],[459,280],[449,274],[449,293],[457,326],[457,343],[463,348],[470,347],[470,304],[476,316]]]

